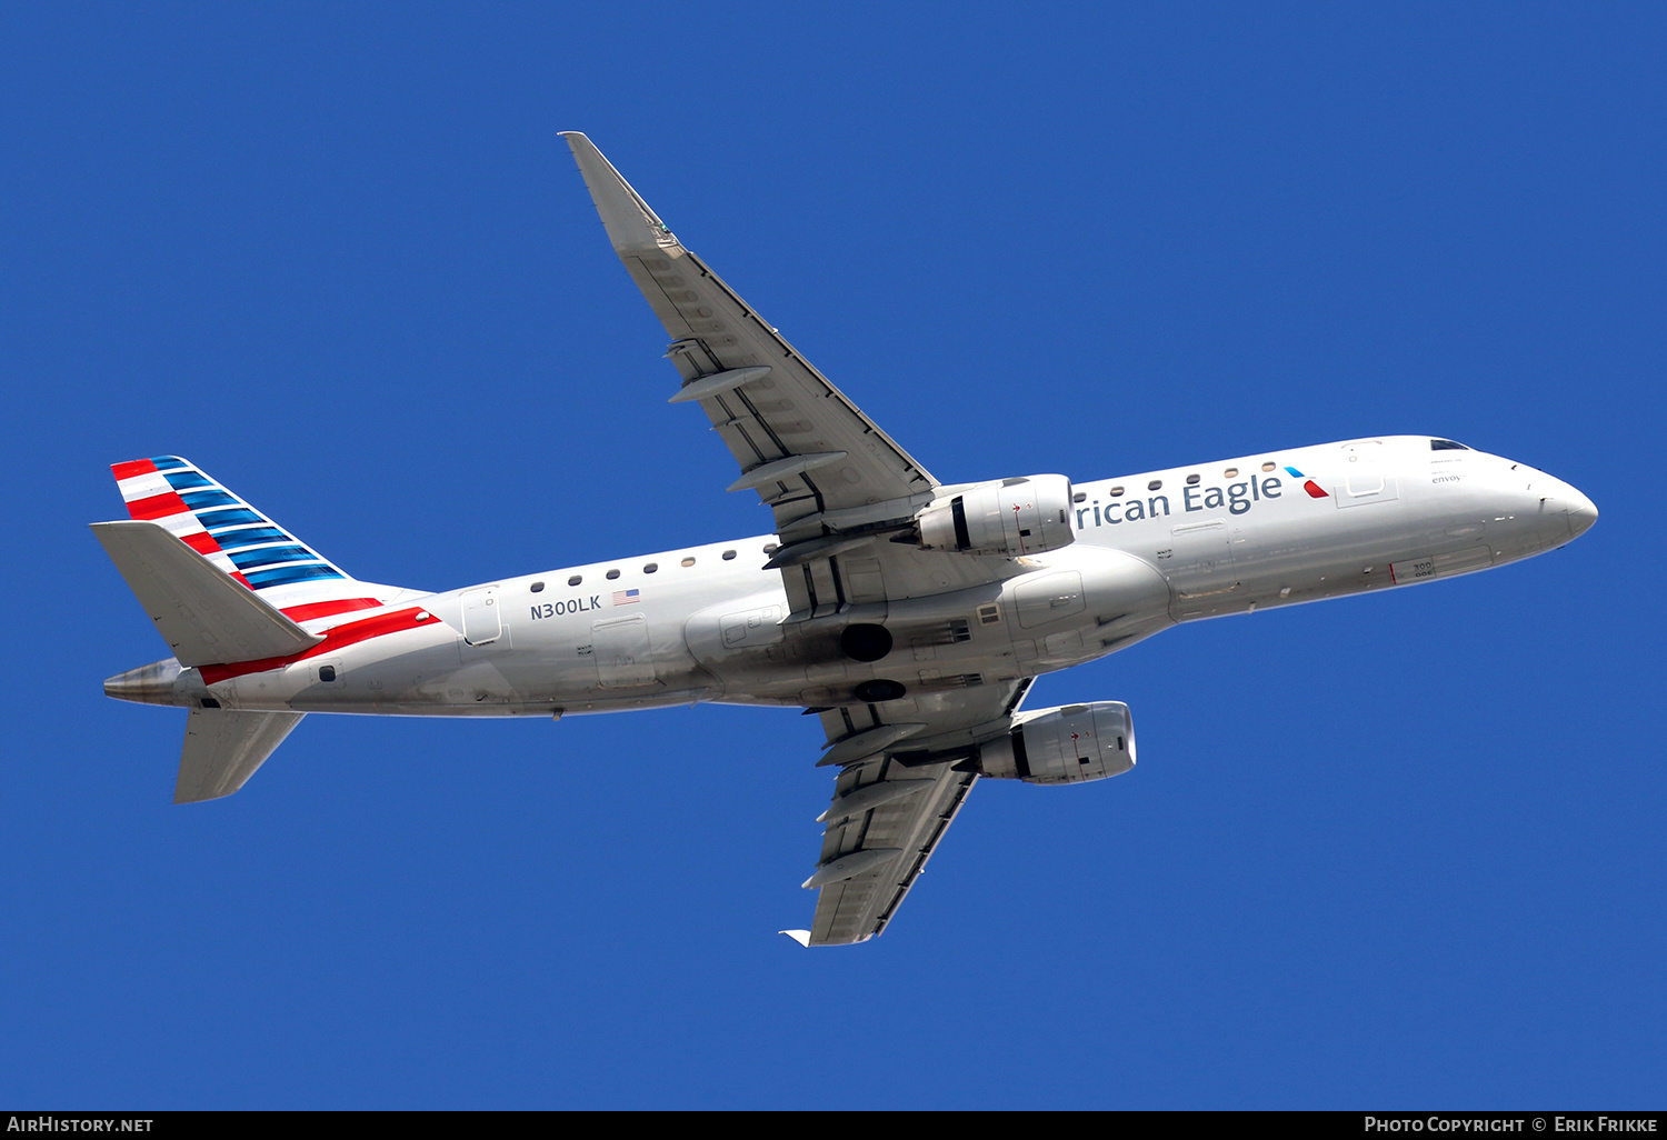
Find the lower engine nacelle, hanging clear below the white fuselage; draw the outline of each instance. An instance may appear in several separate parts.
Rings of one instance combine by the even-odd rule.
[[[982,775],[1027,783],[1085,783],[1132,767],[1135,725],[1115,700],[1019,713],[1014,730],[979,753]]]

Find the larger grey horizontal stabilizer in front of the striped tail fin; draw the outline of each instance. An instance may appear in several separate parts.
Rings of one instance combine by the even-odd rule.
[[[323,640],[217,570],[158,523],[133,520],[92,527],[180,665],[287,657]]]

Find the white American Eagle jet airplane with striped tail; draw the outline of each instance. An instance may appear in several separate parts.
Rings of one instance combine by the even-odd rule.
[[[1115,700],[1044,673],[1230,613],[1395,590],[1579,538],[1585,495],[1445,437],[1115,478],[942,483],[690,253],[592,142],[602,225],[775,533],[430,593],[353,578],[178,457],[115,463],[93,533],[172,657],[108,697],[188,708],[175,803],[232,795],[307,713],[555,717],[720,702],[820,718],[830,768],[800,945],[892,922],[980,778],[1135,765]]]

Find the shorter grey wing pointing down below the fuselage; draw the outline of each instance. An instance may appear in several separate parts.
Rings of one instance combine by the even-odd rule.
[[[1007,682],[823,712],[822,763],[844,772],[822,815],[822,860],[805,880],[820,888],[815,918],[783,933],[834,947],[885,930],[979,780],[959,760],[1010,728],[1029,688]]]

